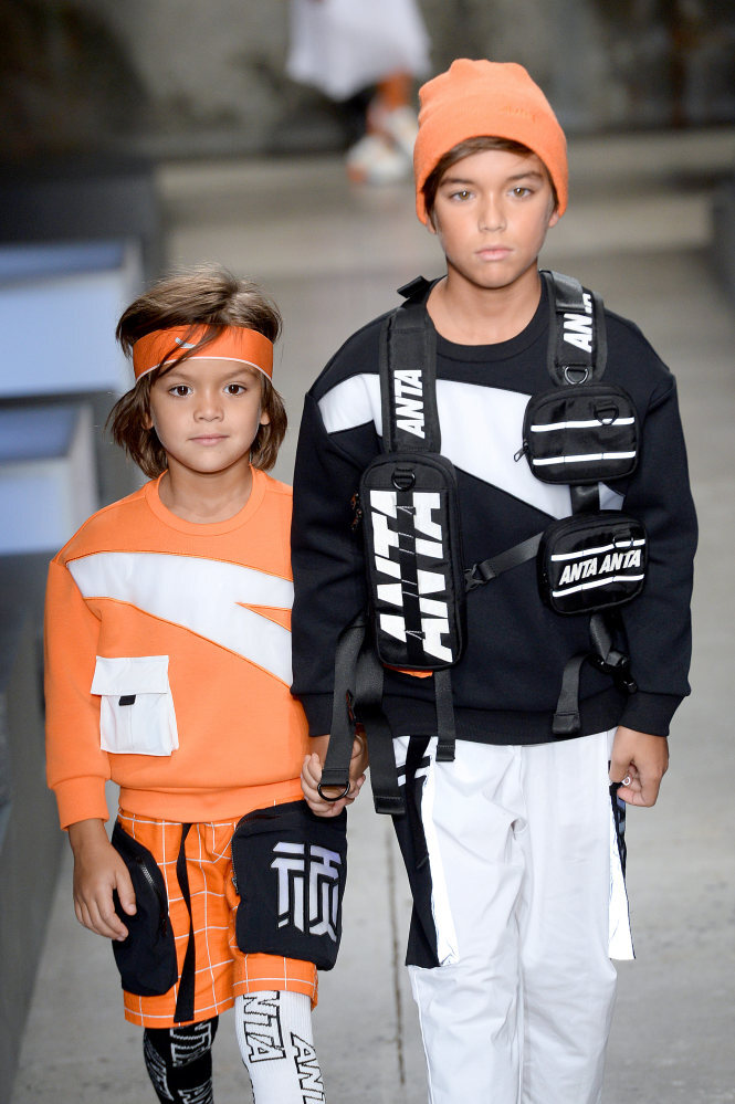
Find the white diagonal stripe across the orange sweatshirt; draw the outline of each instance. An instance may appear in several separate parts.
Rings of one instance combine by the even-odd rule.
[[[221,644],[291,685],[291,633],[243,609],[291,609],[293,583],[287,579],[239,564],[164,553],[95,553],[71,560],[67,567],[85,598],[129,602]]]

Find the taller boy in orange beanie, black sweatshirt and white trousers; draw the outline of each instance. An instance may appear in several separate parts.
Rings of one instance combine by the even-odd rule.
[[[421,90],[414,171],[419,218],[447,260],[424,324],[435,329],[441,453],[456,472],[464,562],[476,565],[571,514],[569,486],[533,474],[522,429],[529,397],[552,386],[537,256],[567,206],[566,141],[522,66],[461,60]],[[317,785],[337,639],[366,606],[349,502],[380,450],[381,324],[336,354],[301,428],[293,692],[319,737],[302,777],[322,816],[342,808]],[[674,380],[634,325],[606,312],[605,326],[605,380],[628,392],[641,425],[634,471],[596,484],[600,508],[622,507],[648,532],[643,590],[617,613],[637,691],[584,663],[577,732],[555,734],[565,670],[589,652],[590,618],[544,604],[533,557],[466,597],[466,645],[451,671],[453,760],[437,755],[434,680],[385,672],[408,807],[395,818],[414,902],[407,960],[433,1104],[600,1098],[616,984],[610,887],[622,858],[617,845],[611,854],[608,789],[634,805],[657,800],[669,722],[689,692],[695,546]],[[355,778],[361,766],[356,748]],[[616,942],[630,957],[624,907]]]

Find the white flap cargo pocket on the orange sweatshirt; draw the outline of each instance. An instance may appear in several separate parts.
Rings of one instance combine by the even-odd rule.
[[[168,655],[97,656],[99,746],[116,755],[170,755],[179,746]]]

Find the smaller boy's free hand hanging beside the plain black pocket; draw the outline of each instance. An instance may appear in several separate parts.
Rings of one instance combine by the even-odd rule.
[[[69,826],[74,852],[74,912],[80,924],[107,939],[123,942],[127,928],[115,912],[113,890],[128,916],[136,912],[130,875],[107,839],[101,820],[80,820]]]

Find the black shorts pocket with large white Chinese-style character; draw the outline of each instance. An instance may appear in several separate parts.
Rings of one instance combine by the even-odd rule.
[[[315,816],[305,801],[249,812],[232,837],[240,894],[235,937],[244,954],[337,960],[347,877],[347,814]]]

